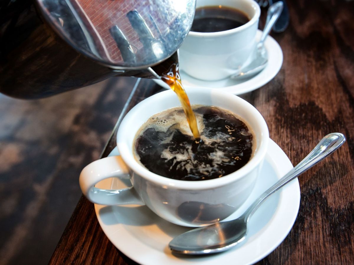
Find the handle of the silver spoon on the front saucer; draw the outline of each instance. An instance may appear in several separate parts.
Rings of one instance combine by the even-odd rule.
[[[319,163],[322,159],[333,153],[338,147],[340,147],[346,138],[341,133],[331,133],[322,138],[322,140],[316,145],[316,147],[305,157],[299,164],[291,169],[284,177],[279,179],[272,187],[267,189],[259,196],[253,204],[242,214],[242,218],[247,220],[250,215],[256,211],[259,205],[268,198],[269,195],[276,192],[278,189],[292,181],[303,172]]]

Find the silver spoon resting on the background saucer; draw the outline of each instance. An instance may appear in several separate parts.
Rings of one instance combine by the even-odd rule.
[[[267,38],[270,30],[272,29],[276,20],[278,20],[281,11],[283,10],[283,2],[276,2],[271,5],[267,11],[267,20],[261,36],[261,40],[257,43],[252,58],[254,58],[250,64],[241,68],[238,72],[234,73],[230,78],[239,79],[246,78],[262,71],[268,64],[268,53],[264,47],[265,38]]]

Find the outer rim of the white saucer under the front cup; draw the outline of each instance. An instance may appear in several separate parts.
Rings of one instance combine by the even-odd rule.
[[[292,164],[291,164],[291,161],[289,160],[289,158],[287,157],[287,155],[284,153],[284,151],[282,151],[282,149],[272,139],[269,139],[269,140],[270,141],[269,141],[269,147],[268,147],[266,159],[267,159],[267,162],[270,163],[270,165],[272,166],[273,170],[276,172],[277,177],[280,178],[280,176],[284,175],[287,171],[289,171],[292,168]],[[113,151],[112,153],[114,155],[116,155],[118,152]],[[272,158],[272,155],[269,155],[269,153],[271,153],[275,158]],[[281,160],[281,163],[279,163],[279,161],[277,161],[277,160]],[[258,236],[256,238],[253,238],[252,240],[250,240],[250,242],[246,242],[244,246],[251,245],[251,244],[254,245],[262,238],[264,239],[264,237],[266,237],[267,232],[270,232],[270,230],[272,229],[272,225],[273,226],[276,225],[276,224],[274,224],[274,220],[277,218],[279,219],[280,215],[282,215],[281,222],[279,223],[280,226],[277,226],[277,229],[276,229],[279,233],[276,236],[276,240],[274,240],[271,244],[267,244],[267,247],[263,247],[263,249],[261,251],[258,251],[258,253],[255,253],[255,255],[253,257],[250,257],[250,259],[247,262],[242,263],[242,264],[253,264],[253,263],[261,260],[262,258],[266,257],[269,253],[273,252],[274,249],[277,248],[282,241],[284,241],[285,237],[289,234],[293,224],[295,223],[295,220],[296,220],[296,217],[298,214],[298,210],[299,210],[299,205],[300,205],[300,187],[299,187],[298,179],[297,178],[294,179],[292,181],[292,183],[289,183],[286,187],[282,188],[279,192],[280,192],[280,194],[279,194],[278,205],[276,206],[276,210],[273,213],[272,218],[268,221],[268,223],[266,225],[263,226],[261,231],[257,232]],[[147,262],[148,260],[145,259],[146,257],[144,257],[144,255],[142,255],[142,256],[139,255],[138,257],[136,255],[134,255],[136,253],[136,251],[139,249],[139,246],[136,246],[136,249],[133,249],[133,250],[131,249],[131,247],[124,247],[125,241],[124,240],[122,241],[121,237],[114,236],[118,230],[115,230],[112,233],[113,228],[110,227],[111,225],[106,225],[103,223],[101,216],[99,214],[99,209],[102,207],[104,207],[104,206],[95,204],[96,217],[98,219],[98,222],[99,222],[103,232],[108,237],[108,239],[113,243],[113,245],[116,248],[118,248],[120,252],[124,253],[130,259],[132,259],[140,264],[151,264],[151,263]],[[284,215],[283,215],[284,211],[288,212],[288,215],[287,216],[285,215],[286,217],[284,217]],[[115,225],[120,225],[120,224],[115,224]],[[135,240],[138,242],[141,242],[137,238],[135,238]],[[123,243],[121,243],[121,242],[123,242]],[[242,246],[242,247],[244,247],[244,246]],[[143,245],[142,249],[140,249],[140,250],[142,251],[145,248],[146,248],[145,245]],[[145,249],[145,250],[148,250],[148,252],[149,252],[150,248]],[[183,264],[183,263],[188,263],[191,261],[190,259],[176,259],[172,255],[166,255],[165,251],[164,252],[160,252],[158,250],[155,250],[155,251],[157,251],[158,254],[161,254],[161,256],[158,256],[158,257],[154,256],[156,259],[154,260],[153,264],[160,264],[159,262],[167,262],[167,261],[170,264]],[[237,251],[239,251],[239,250],[238,249],[235,250],[236,254],[237,254]],[[150,254],[150,252],[149,252],[149,254]],[[218,254],[216,256],[217,257],[216,260],[225,260],[225,259],[229,260],[230,256],[231,256],[231,258],[233,256],[232,249],[230,249],[228,252]],[[212,257],[212,256],[208,256],[208,257]],[[204,261],[207,264],[213,264],[213,262],[215,262],[215,258],[207,259],[207,260],[203,259],[203,262]],[[204,264],[206,264],[206,263],[204,263]],[[161,264],[163,264],[163,263],[161,263]]]

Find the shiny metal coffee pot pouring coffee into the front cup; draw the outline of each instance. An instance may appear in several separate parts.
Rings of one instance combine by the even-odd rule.
[[[194,11],[195,0],[1,1],[0,92],[33,99],[111,76],[159,78],[152,67],[176,53]]]

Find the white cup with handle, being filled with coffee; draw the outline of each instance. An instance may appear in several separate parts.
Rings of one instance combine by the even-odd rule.
[[[103,205],[147,205],[160,217],[184,226],[202,226],[230,216],[250,195],[267,151],[269,133],[262,115],[238,96],[207,88],[188,92],[191,104],[218,106],[247,121],[256,139],[256,150],[241,169],[217,179],[183,181],[156,175],[133,155],[136,132],[153,114],[180,106],[176,94],[167,90],[133,107],[117,133],[120,156],[107,157],[87,165],[80,174],[80,187],[92,202]],[[109,177],[130,176],[131,188],[101,190],[94,187]],[[197,214],[198,213],[198,214]],[[194,218],[196,214],[199,216]]]

